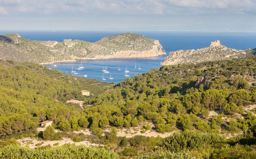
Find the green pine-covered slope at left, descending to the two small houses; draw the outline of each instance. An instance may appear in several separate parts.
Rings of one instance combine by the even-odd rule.
[[[35,130],[40,121],[81,112],[66,100],[85,100],[81,90],[95,95],[111,84],[77,78],[33,63],[0,60],[0,136]]]

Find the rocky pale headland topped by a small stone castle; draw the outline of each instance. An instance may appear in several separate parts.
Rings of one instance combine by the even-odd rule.
[[[219,42],[219,41],[218,41]],[[161,65],[174,65],[183,63],[200,63],[205,61],[215,61],[224,59],[238,59],[253,54],[255,49],[236,50],[225,47],[216,41],[207,48],[197,50],[178,50],[170,52]]]

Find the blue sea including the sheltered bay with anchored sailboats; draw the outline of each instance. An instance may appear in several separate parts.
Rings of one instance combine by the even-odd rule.
[[[64,39],[78,39],[95,42],[105,36],[111,36],[121,33],[136,33],[148,38],[159,40],[167,55],[175,50],[187,50],[209,47],[211,41],[220,40],[222,45],[230,48],[246,50],[256,48],[256,33],[242,32],[192,32],[192,31],[0,31],[0,35],[19,34],[29,40],[55,40],[63,41]],[[71,69],[78,68],[82,62],[84,69],[76,70],[83,78],[97,79],[103,82],[118,83],[150,71],[154,68],[161,67],[160,62],[167,56],[150,58],[131,58],[131,59],[103,59],[103,60],[78,60],[75,62],[61,62],[54,64],[45,64],[45,66],[71,74]],[[102,71],[107,67],[109,73]],[[125,69],[128,69],[125,76]],[[136,66],[136,67],[135,67]],[[121,70],[118,70],[121,69]],[[139,69],[140,68],[140,69]],[[111,75],[110,75],[111,74]],[[86,77],[85,77],[86,76]],[[109,79],[112,77],[113,79]],[[102,78],[106,80],[102,80]]]

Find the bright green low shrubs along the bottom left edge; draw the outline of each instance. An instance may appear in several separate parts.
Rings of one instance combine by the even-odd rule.
[[[62,145],[59,147],[41,147],[40,149],[29,149],[17,145],[7,145],[0,149],[0,158],[24,158],[24,159],[118,159],[119,155],[104,148],[90,148],[83,145]]]

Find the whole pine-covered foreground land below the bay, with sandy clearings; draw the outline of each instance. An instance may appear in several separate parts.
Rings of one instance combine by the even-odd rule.
[[[256,55],[163,66],[111,89],[98,82],[86,88],[102,88],[90,99],[78,95],[88,86],[81,78],[37,64],[1,63],[0,79],[7,80],[0,80],[0,136],[19,140],[0,140],[0,157],[8,158],[7,150],[45,158],[93,158],[98,151],[116,158],[256,157]],[[83,109],[64,103],[73,98],[84,100]],[[40,128],[43,120],[54,124]],[[105,148],[91,154],[65,143]]]

